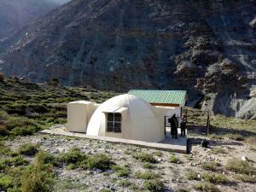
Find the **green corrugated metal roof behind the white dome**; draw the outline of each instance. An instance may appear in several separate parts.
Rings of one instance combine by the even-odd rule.
[[[130,90],[129,95],[138,96],[149,103],[179,104],[186,100],[186,90]]]

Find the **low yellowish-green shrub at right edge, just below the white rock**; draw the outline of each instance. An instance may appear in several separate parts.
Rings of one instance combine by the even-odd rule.
[[[228,160],[225,169],[241,174],[255,174],[255,167],[253,164],[249,163],[248,161],[238,160],[236,158]]]

